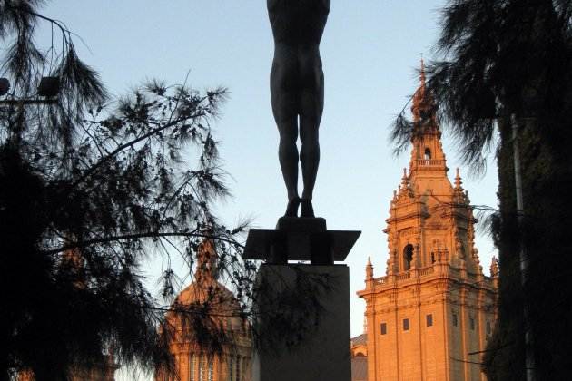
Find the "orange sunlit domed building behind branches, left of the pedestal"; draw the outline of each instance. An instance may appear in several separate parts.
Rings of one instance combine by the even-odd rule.
[[[163,333],[169,331],[169,349],[174,363],[171,372],[159,369],[156,381],[251,381],[251,327],[240,316],[238,300],[231,290],[217,281],[217,253],[211,239],[197,249],[194,282],[184,288],[167,312]],[[185,308],[204,306],[208,313],[202,318],[202,329],[185,318]],[[204,329],[224,333],[221,347],[208,348],[199,344]],[[209,341],[207,339],[207,341]],[[212,350],[215,349],[215,350]]]

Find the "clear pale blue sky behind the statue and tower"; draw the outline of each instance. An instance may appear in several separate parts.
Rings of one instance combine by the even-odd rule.
[[[351,334],[363,329],[363,288],[368,256],[374,276],[385,275],[387,239],[381,231],[409,151],[396,157],[390,123],[419,85],[416,69],[439,34],[442,0],[333,0],[321,40],[325,106],[321,164],[314,210],[330,230],[361,230],[350,252]],[[120,96],[145,79],[229,89],[214,122],[232,198],[216,207],[228,225],[243,217],[271,229],[283,214],[286,190],[277,157],[269,75],[273,54],[266,4],[258,0],[58,0],[44,15],[76,34],[80,57]],[[43,28],[37,43],[50,44]],[[449,179],[460,168],[473,204],[497,206],[496,163],[470,175],[443,127]],[[478,230],[476,246],[488,274],[495,249]],[[150,264],[153,267],[153,264]]]

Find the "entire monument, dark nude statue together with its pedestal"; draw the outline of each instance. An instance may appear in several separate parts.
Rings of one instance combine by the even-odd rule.
[[[349,270],[334,262],[347,257],[360,231],[327,230],[326,220],[316,218],[312,206],[324,105],[320,42],[330,0],[267,0],[267,5],[274,37],[271,105],[280,134],[279,161],[288,202],[276,229],[251,229],[244,249],[244,259],[265,262],[257,275],[260,298],[254,302],[259,312],[254,327],[261,336],[274,338],[271,348],[259,347],[254,356],[252,379],[349,381]],[[297,298],[311,299],[312,305],[306,305],[310,314],[288,302],[281,305],[282,299]],[[309,325],[294,344],[291,332],[281,331],[280,323],[289,319],[302,324],[306,319]]]

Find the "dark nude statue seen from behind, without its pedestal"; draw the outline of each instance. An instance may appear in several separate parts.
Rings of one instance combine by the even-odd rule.
[[[279,160],[288,192],[285,217],[314,217],[312,193],[320,162],[318,129],[324,107],[320,41],[330,0],[267,0],[274,36],[271,103],[280,132]],[[298,195],[300,132],[304,188]]]

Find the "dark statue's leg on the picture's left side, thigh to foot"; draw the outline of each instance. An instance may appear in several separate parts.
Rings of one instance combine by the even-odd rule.
[[[286,217],[296,217],[300,197],[298,196],[298,97],[295,89],[289,86],[295,83],[295,61],[276,60],[271,69],[271,103],[274,120],[280,132],[278,158],[282,177],[288,192]]]

